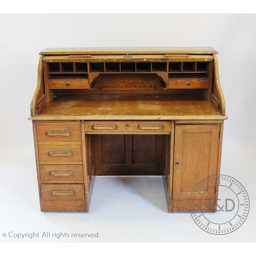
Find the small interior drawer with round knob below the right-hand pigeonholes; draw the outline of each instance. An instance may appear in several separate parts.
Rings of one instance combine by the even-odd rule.
[[[170,89],[207,89],[209,79],[169,79],[168,88]]]

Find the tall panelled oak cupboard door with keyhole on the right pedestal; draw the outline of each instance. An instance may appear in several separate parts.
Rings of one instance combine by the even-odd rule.
[[[220,124],[175,127],[173,200],[189,200],[195,186],[217,174]],[[205,199],[215,198],[216,180],[202,187]]]

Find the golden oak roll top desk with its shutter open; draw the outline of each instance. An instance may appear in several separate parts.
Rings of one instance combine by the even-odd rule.
[[[50,48],[31,101],[41,211],[88,212],[95,176],[161,175],[169,212],[216,211],[225,101],[205,48]],[[208,178],[207,178],[208,177]],[[210,189],[211,188],[211,189]]]

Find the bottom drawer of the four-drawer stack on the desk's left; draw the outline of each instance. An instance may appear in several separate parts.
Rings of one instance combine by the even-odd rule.
[[[83,184],[41,184],[44,211],[85,211]]]

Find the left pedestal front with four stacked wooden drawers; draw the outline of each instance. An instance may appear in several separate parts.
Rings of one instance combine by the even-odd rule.
[[[85,211],[80,121],[36,121],[41,211]]]

